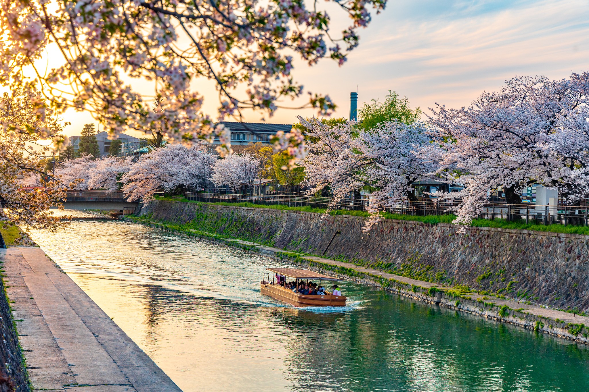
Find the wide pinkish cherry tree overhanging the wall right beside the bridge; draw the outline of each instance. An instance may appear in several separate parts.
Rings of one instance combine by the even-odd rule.
[[[200,146],[168,145],[158,148],[131,165],[121,177],[128,200],[149,200],[158,190],[197,189],[206,185],[215,158]]]

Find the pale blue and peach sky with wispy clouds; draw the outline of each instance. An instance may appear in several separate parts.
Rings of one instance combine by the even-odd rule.
[[[335,9],[330,15],[333,30],[349,23]],[[329,94],[338,105],[335,116],[349,116],[352,91],[358,91],[362,105],[382,100],[391,89],[427,113],[436,102],[468,106],[515,75],[562,79],[589,68],[586,0],[389,0],[359,34],[360,45],[341,67],[330,59],[313,67],[295,63],[294,78],[307,91]],[[204,95],[204,108],[216,117],[217,95],[211,86],[194,83]],[[266,121],[293,123],[297,115],[314,114],[279,109]],[[66,113],[64,120],[72,123],[67,135],[78,135],[84,123],[95,122],[88,113],[75,112]],[[260,115],[247,112],[246,120],[258,121]]]

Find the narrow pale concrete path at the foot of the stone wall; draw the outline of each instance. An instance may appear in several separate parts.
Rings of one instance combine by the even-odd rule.
[[[234,238],[224,238],[224,240],[231,240],[231,241],[239,242],[244,245],[255,246],[255,247],[259,248],[260,250],[262,250],[263,251],[262,253],[270,254],[272,256],[274,256],[277,252],[292,253],[287,250],[277,249],[277,248],[269,247],[269,246],[263,246],[261,244],[257,244],[254,242],[243,241],[243,240],[238,240],[238,239],[234,239]],[[385,279],[395,279],[398,282],[415,284],[416,286],[425,287],[426,289],[429,289],[429,287],[436,287],[441,290],[451,290],[452,289],[452,287],[449,287],[449,286],[443,286],[441,284],[425,282],[423,280],[410,279],[405,276],[381,272],[379,270],[358,266],[358,265],[352,264],[352,263],[340,262],[337,260],[325,259],[323,257],[316,257],[316,256],[301,256],[301,257],[304,257],[305,259],[309,259],[309,260],[314,260],[316,262],[330,264],[332,266],[339,266],[339,267],[353,269],[358,272],[364,272],[364,273],[372,274],[374,276],[382,276]],[[566,311],[548,309],[545,307],[534,306],[534,305],[530,305],[530,304],[526,304],[524,302],[519,302],[519,301],[514,301],[514,300],[501,299],[501,298],[498,298],[498,297],[495,297],[492,295],[482,296],[480,294],[477,294],[477,292],[472,292],[467,295],[469,297],[471,297],[471,299],[473,299],[473,300],[481,299],[481,300],[485,301],[486,303],[494,303],[497,306],[507,305],[511,309],[518,309],[520,311],[534,314],[535,316],[547,317],[548,319],[552,319],[552,320],[558,319],[558,320],[563,321],[564,323],[585,324],[585,326],[589,326],[589,317],[579,316],[578,314],[575,315],[573,313],[568,313]]]

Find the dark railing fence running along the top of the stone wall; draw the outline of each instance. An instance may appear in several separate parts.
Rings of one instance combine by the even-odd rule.
[[[297,195],[221,195],[219,193],[186,192],[184,197],[207,203],[243,203],[256,205],[284,205],[289,207],[309,206],[327,208],[330,197],[297,196]],[[422,199],[416,202],[405,202],[390,206],[387,211],[398,215],[447,215],[455,210],[459,201]],[[366,211],[368,197],[362,199],[342,199],[335,209]],[[510,205],[507,203],[488,203],[479,215],[482,219],[504,219],[507,222],[531,223],[536,225],[573,225],[588,226],[589,206],[550,205],[537,206],[532,203]]]

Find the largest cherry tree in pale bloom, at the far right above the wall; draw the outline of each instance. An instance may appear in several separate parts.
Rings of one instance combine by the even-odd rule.
[[[465,186],[437,194],[462,199],[455,223],[471,223],[499,186],[508,203],[520,203],[518,193],[533,183],[559,187],[571,201],[587,195],[588,81],[587,72],[561,81],[515,77],[468,108],[432,109],[431,136],[444,150],[439,174]]]

